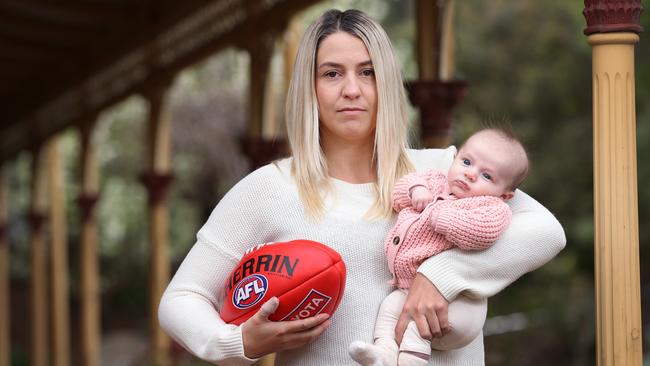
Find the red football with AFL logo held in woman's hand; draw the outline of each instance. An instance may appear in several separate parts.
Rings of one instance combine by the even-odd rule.
[[[332,314],[345,289],[345,264],[327,245],[311,240],[266,243],[246,252],[225,284],[221,318],[239,325],[276,296],[269,319],[296,320]]]

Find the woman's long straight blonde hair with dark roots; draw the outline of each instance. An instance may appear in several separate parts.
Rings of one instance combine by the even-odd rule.
[[[333,33],[345,32],[363,41],[375,70],[377,123],[373,165],[377,171],[377,200],[366,214],[389,217],[391,191],[399,177],[413,170],[408,159],[406,95],[397,58],[383,28],[358,10],[329,10],[305,32],[287,95],[287,134],[293,156],[292,173],[307,214],[324,212],[324,195],[331,190],[327,161],[320,146],[316,98],[316,53]]]

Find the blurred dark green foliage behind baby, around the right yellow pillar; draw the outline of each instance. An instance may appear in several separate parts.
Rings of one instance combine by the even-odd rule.
[[[533,322],[534,333],[488,339],[488,353],[503,357],[488,358],[488,364],[593,364],[591,47],[582,34],[582,4],[466,0],[457,6],[459,77],[468,80],[470,88],[456,111],[456,137],[462,140],[485,118],[507,116],[532,160],[523,189],[557,216],[567,236],[567,247],[556,259],[490,300],[492,315],[524,311],[532,319],[545,320]],[[648,17],[642,19],[648,29]],[[647,42],[643,45],[642,35],[636,69],[639,162],[650,156],[650,115],[644,103],[650,67],[643,61],[649,59]],[[643,263],[648,263],[650,194],[643,182],[650,170],[647,164],[638,167],[641,276],[647,289],[650,270]],[[645,298],[646,314],[647,303]],[[500,339],[508,346],[500,345]],[[529,353],[517,358],[511,350],[518,348],[540,357]],[[549,352],[564,354],[564,361],[544,356]]]

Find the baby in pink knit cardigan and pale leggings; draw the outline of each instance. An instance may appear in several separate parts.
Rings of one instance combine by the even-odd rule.
[[[393,208],[399,214],[384,247],[397,289],[382,302],[374,344],[355,341],[350,345],[355,361],[368,366],[428,364],[432,344],[420,337],[414,322],[410,322],[400,345],[394,339],[395,325],[418,266],[426,258],[454,247],[480,250],[491,246],[512,217],[505,201],[514,196],[527,173],[528,158],[522,144],[509,131],[488,128],[470,136],[446,176],[435,171],[411,173],[396,183]],[[453,329],[442,338],[455,338],[448,342],[455,345],[436,347],[440,342],[434,340],[433,348],[464,346],[480,332],[487,303],[478,309],[460,305],[462,310],[452,311],[454,304],[463,301],[450,304]]]

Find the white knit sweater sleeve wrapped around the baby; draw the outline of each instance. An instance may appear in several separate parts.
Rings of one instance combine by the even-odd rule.
[[[461,292],[476,298],[492,296],[564,248],[564,230],[544,206],[522,191],[509,205],[511,224],[493,246],[484,251],[450,249],[418,268],[448,301]]]

